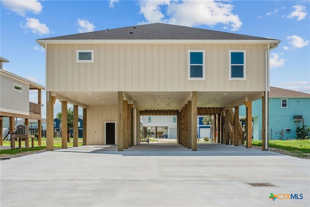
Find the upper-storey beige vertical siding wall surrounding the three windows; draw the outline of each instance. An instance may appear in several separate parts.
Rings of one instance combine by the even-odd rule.
[[[93,63],[77,63],[93,49]],[[206,80],[187,80],[187,50],[205,49]],[[228,51],[247,51],[246,80],[228,79]],[[263,91],[267,45],[47,45],[47,91]]]

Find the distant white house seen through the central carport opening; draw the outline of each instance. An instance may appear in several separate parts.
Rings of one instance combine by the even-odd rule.
[[[150,127],[156,138],[176,139],[177,116],[142,116],[143,127]]]

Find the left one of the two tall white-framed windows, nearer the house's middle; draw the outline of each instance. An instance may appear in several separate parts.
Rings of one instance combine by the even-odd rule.
[[[205,80],[205,50],[188,50],[188,80]]]

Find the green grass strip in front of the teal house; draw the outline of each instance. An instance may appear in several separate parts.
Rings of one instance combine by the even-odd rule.
[[[252,141],[252,145],[262,146],[262,141]],[[269,140],[268,146],[297,154],[310,153],[310,140]]]

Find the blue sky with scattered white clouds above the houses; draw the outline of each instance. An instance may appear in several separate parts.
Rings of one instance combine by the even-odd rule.
[[[154,22],[279,39],[270,85],[310,93],[309,0],[1,0],[0,56],[4,69],[45,85],[36,39]]]

